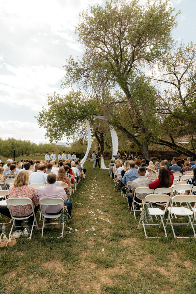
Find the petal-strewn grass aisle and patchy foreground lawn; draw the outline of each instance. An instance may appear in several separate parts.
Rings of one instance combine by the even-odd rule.
[[[72,230],[61,239],[35,230],[1,249],[0,293],[195,293],[195,240],[146,240],[108,171],[92,165],[73,195]]]

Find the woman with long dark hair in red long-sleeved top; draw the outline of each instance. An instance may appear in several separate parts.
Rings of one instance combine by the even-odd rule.
[[[158,179],[150,183],[148,187],[150,189],[169,188],[172,186],[173,180],[174,180],[173,173],[169,171],[168,169],[161,167],[159,169]],[[167,195],[170,196],[170,193],[167,193]]]

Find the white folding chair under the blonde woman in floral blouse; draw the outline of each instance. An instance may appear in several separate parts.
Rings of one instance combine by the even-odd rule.
[[[11,214],[11,211],[10,211],[10,205],[12,206],[25,206],[25,205],[31,205],[31,208],[32,208],[32,213],[30,216],[34,216],[34,220],[33,220],[33,224],[32,226],[29,226],[29,225],[25,225],[25,227],[32,227],[31,228],[31,233],[30,233],[30,236],[29,236],[29,240],[31,240],[31,236],[32,236],[32,232],[33,232],[33,227],[34,227],[34,223],[36,222],[36,227],[37,229],[39,230],[38,228],[38,225],[37,225],[37,220],[36,220],[36,217],[35,217],[35,213],[34,213],[34,209],[33,209],[33,203],[32,203],[32,200],[29,199],[29,198],[26,198],[26,197],[19,197],[19,198],[8,198],[6,200],[6,203],[7,203],[7,206],[8,206],[8,209],[9,209],[9,212]],[[13,227],[15,226],[15,220],[26,220],[28,218],[30,218],[30,216],[23,216],[23,217],[17,217],[17,216],[12,216],[11,214],[11,218],[13,220],[13,224],[12,224],[12,227],[11,227],[11,231],[10,231],[10,234],[12,232],[12,229]],[[16,226],[15,226],[16,227]]]

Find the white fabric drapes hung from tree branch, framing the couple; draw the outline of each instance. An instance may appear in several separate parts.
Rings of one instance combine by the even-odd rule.
[[[105,116],[93,115],[93,117],[107,120],[107,118]],[[88,146],[87,146],[86,154],[81,160],[82,164],[85,163],[86,158],[88,156],[88,153],[89,153],[89,151],[91,149],[91,144],[92,144],[91,129],[90,129],[90,126],[89,126],[88,119],[86,119],[86,125],[87,125],[87,133],[88,133]],[[111,134],[111,137],[112,137],[112,154],[114,155],[114,154],[117,154],[117,152],[118,152],[118,136],[117,136],[117,133],[116,133],[115,129],[113,128],[113,126],[110,126],[110,134]],[[112,159],[114,160],[115,157],[112,157]]]

